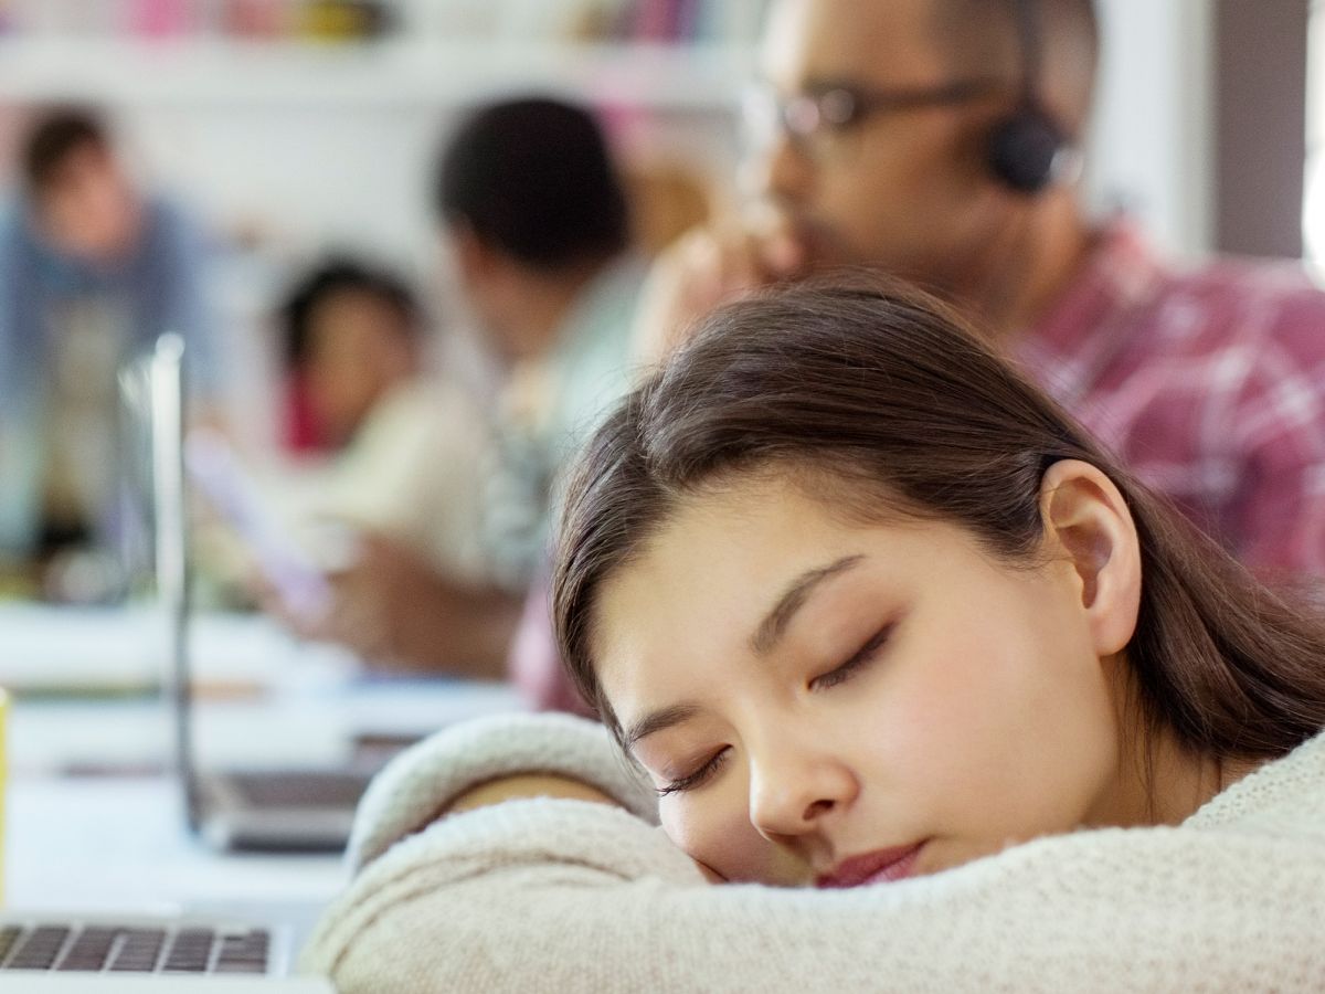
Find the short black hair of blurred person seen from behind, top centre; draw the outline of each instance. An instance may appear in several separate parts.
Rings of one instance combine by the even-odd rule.
[[[473,113],[443,152],[436,197],[444,220],[538,269],[629,243],[625,191],[598,121],[547,97]]]

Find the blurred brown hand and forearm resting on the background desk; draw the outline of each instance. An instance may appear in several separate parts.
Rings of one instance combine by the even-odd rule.
[[[413,550],[371,531],[356,538],[352,561],[330,580],[323,618],[284,615],[305,637],[339,643],[382,667],[505,676],[519,596],[441,577]]]

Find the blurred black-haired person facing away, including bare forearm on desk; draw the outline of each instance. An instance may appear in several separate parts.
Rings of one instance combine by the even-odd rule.
[[[526,618],[546,619],[553,478],[627,387],[645,268],[598,122],[560,101],[504,101],[470,114],[443,150],[437,208],[465,302],[502,374],[482,537],[509,594],[476,599],[417,549],[376,541],[337,578],[337,606],[319,634],[370,660],[494,677],[506,672],[519,596],[530,591]],[[457,644],[461,630],[484,637]],[[517,683],[522,672],[533,675],[526,689],[538,702],[560,702],[546,664],[517,667]]]

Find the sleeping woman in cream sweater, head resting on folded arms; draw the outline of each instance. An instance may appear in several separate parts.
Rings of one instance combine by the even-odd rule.
[[[929,298],[712,315],[554,615],[602,724],[375,782],[346,994],[1325,987],[1325,631]]]

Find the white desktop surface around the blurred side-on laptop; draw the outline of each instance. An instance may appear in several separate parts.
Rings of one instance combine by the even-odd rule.
[[[28,675],[60,687],[76,684],[89,665],[109,672],[110,663],[151,677],[159,672],[151,624],[132,612],[0,606],[0,687],[7,669],[12,680]],[[344,660],[292,643],[262,619],[204,619],[196,634],[204,680],[249,690],[195,710],[195,753],[204,769],[335,765],[356,734],[424,734],[518,706],[502,685],[356,677]],[[188,835],[178,783],[162,773],[172,761],[172,721],[159,698],[19,697],[8,738],[4,856],[12,908],[219,911],[282,917],[299,932],[343,884],[334,856],[220,855]],[[89,765],[158,773],[53,775]]]

